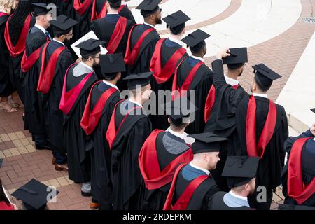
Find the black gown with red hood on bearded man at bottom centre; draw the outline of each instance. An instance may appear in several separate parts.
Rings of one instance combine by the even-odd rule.
[[[206,172],[189,164],[180,165],[174,174],[164,210],[207,210],[218,186]]]

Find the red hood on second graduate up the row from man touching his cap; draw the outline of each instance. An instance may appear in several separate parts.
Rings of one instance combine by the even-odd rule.
[[[162,68],[161,62],[161,49],[162,43],[166,39],[160,39],[155,45],[155,50],[151,59],[150,70],[153,72],[153,76],[158,84],[165,83],[169,78],[171,78],[174,70],[176,69],[176,64],[179,60],[186,54],[186,49],[179,48],[176,50],[171,58],[169,58],[167,64]]]

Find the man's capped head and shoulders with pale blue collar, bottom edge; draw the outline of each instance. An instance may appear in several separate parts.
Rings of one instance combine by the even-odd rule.
[[[259,157],[229,156],[225,162],[223,176],[228,177],[231,190],[219,191],[209,202],[211,210],[251,210],[247,196],[255,191],[255,175]]]

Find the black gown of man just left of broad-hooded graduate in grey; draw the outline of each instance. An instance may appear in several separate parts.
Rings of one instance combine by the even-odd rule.
[[[118,103],[115,116],[116,130],[123,116],[119,106],[132,109],[136,104],[129,100]],[[138,115],[139,113],[139,115]],[[141,146],[152,131],[148,116],[141,109],[136,109],[134,115],[128,115],[117,133],[112,145],[111,171],[113,178],[113,209],[141,209],[144,200],[144,181],[139,170],[138,157]]]

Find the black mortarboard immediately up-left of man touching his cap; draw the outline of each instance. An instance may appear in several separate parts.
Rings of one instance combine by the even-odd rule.
[[[209,38],[210,36],[211,35],[207,34],[201,29],[197,29],[193,33],[188,34],[188,36],[183,38],[181,41],[186,43],[190,47],[190,49],[193,49],[194,51],[198,51],[204,47],[204,45],[206,44],[204,40]]]

